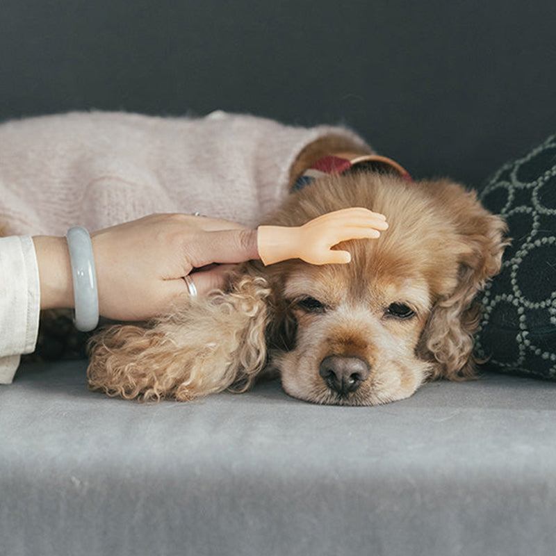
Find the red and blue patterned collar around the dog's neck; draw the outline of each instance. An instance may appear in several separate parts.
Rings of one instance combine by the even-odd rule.
[[[409,172],[407,172],[404,167],[400,166],[391,158],[386,158],[386,156],[379,156],[377,154],[359,155],[340,153],[320,158],[320,160],[305,170],[297,181],[295,181],[291,191],[293,193],[294,191],[302,190],[312,181],[319,177],[326,176],[327,174],[343,174],[343,172],[361,163],[365,163],[365,165],[369,166],[372,170],[378,172],[391,172],[398,174],[398,176],[403,179],[407,179],[407,181],[413,181],[411,175],[409,175]]]

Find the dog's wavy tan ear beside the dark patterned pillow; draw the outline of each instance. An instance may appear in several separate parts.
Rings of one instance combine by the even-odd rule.
[[[418,346],[420,356],[432,363],[432,379],[475,375],[473,334],[481,307],[474,299],[486,281],[500,272],[509,243],[505,222],[486,211],[475,193],[461,195],[455,187],[459,188],[444,184],[442,190],[444,206],[455,224],[456,240],[450,248],[458,265],[456,286],[434,303]]]

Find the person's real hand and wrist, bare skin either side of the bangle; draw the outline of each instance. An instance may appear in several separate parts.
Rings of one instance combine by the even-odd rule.
[[[74,306],[65,238],[35,236],[41,308]],[[115,320],[145,320],[190,295],[222,287],[229,265],[258,258],[256,230],[236,222],[155,214],[91,234],[99,312]],[[199,269],[199,270],[196,270]],[[192,271],[195,271],[192,273]]]

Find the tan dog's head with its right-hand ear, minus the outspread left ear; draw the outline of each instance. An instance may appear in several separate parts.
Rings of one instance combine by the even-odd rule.
[[[425,379],[473,375],[473,298],[500,269],[505,224],[450,181],[359,172],[292,195],[272,224],[300,225],[363,206],[383,213],[377,240],[340,247],[347,265],[302,261],[263,272],[274,292],[272,363],[284,389],[322,404],[407,398]]]

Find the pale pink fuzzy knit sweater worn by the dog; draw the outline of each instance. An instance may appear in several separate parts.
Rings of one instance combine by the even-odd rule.
[[[222,112],[207,117],[69,113],[0,125],[3,235],[63,235],[154,212],[199,213],[248,225],[288,194],[290,167],[343,128],[284,126]]]

